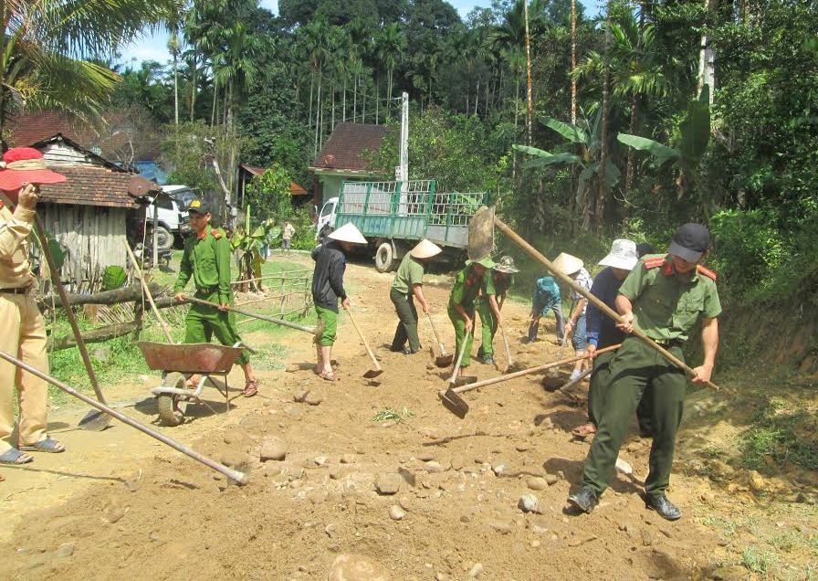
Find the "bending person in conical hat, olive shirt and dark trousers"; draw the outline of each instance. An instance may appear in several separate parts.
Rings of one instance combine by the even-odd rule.
[[[392,289],[389,298],[394,310],[398,314],[398,326],[394,331],[392,351],[414,354],[420,350],[420,339],[417,336],[417,309],[414,308],[414,299],[420,303],[425,313],[429,312],[429,303],[424,296],[424,273],[426,263],[443,252],[443,249],[434,242],[425,238],[412,248],[401,266],[394,274]],[[409,345],[406,346],[406,342]]]

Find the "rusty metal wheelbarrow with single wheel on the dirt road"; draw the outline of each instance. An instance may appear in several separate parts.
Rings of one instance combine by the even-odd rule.
[[[156,407],[159,418],[165,426],[178,426],[184,422],[184,414],[189,403],[201,403],[199,396],[208,381],[225,395],[225,405],[230,408],[230,395],[227,375],[236,364],[241,352],[246,349],[241,343],[232,347],[214,343],[136,343],[148,367],[162,371],[162,385],[154,387],[151,393],[156,396]],[[194,388],[187,386],[192,375],[199,375],[199,382]],[[215,383],[211,375],[221,375],[222,386]]]

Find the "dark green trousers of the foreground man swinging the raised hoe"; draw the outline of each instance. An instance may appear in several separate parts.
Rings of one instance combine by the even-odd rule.
[[[670,347],[668,351],[685,360],[680,347]],[[604,387],[604,411],[585,460],[582,483],[597,494],[608,488],[625,432],[645,387],[650,385],[654,388],[651,407],[654,440],[645,492],[666,491],[673,467],[676,431],[685,407],[687,376],[635,337],[624,340],[611,361],[609,373],[608,385]]]

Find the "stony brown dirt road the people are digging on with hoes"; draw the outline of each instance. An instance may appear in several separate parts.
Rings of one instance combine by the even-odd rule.
[[[370,362],[342,318],[333,354],[340,382],[313,375],[309,337],[291,333],[282,363],[303,369],[260,374],[261,396],[236,398],[226,414],[211,390],[216,415],[202,408],[183,426],[161,428],[249,470],[242,488],[131,428],[81,432],[72,428],[84,409],[55,411],[49,429],[69,451],[0,469],[0,577],[323,579],[339,555],[361,555],[392,579],[747,574],[736,565],[736,537],[702,518],[703,507],[718,515],[740,491],[714,488],[679,465],[670,495],[685,516],[667,523],[638,496],[649,442],[631,436],[623,458],[634,476],[614,481],[593,514],[573,516],[565,499],[580,481],[588,445],[569,430],[584,419],[582,407],[545,392],[535,376],[467,394],[471,412],[457,419],[437,399],[445,374],[428,354],[386,348],[396,323],[392,276],[351,265],[347,278],[386,370],[377,383],[362,379]],[[432,279],[426,292],[451,350],[447,278]],[[529,364],[554,359],[551,323],[540,332],[543,341],[525,345],[528,306],[509,301],[506,309],[515,357]],[[423,321],[421,333],[431,344]],[[253,344],[253,336],[246,339]],[[497,359],[502,367],[501,349]],[[480,378],[499,373],[484,364],[472,369]],[[231,379],[240,386],[240,372]],[[143,377],[109,397],[132,417],[152,421],[146,394],[156,384],[158,375]],[[315,405],[296,401],[305,390]],[[379,414],[386,419],[374,421]],[[286,449],[285,460],[259,460],[270,438]],[[536,497],[536,512],[518,508],[524,494]]]

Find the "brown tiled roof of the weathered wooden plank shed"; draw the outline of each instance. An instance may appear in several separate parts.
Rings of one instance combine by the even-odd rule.
[[[159,185],[137,174],[113,172],[93,165],[54,167],[68,177],[62,184],[40,186],[40,200],[52,204],[79,204],[138,208],[137,196],[159,190]]]

